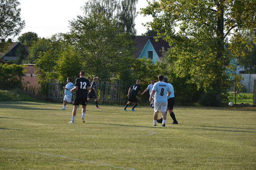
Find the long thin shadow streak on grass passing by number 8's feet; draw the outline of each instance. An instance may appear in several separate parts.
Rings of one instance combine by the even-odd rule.
[[[189,128],[189,127],[146,127],[146,126],[137,126],[137,125],[122,125],[122,124],[101,124],[101,123],[88,123],[95,125],[109,125],[109,126],[121,126],[121,127],[143,127],[143,128],[161,128],[161,129],[177,129],[177,130],[213,130],[213,131],[224,131],[224,132],[242,132],[242,133],[256,133],[256,131],[239,131],[239,130],[219,130],[219,129],[205,129],[205,128]],[[161,126],[161,124],[159,124]],[[196,126],[196,125],[191,125]],[[228,127],[227,127],[228,128]]]

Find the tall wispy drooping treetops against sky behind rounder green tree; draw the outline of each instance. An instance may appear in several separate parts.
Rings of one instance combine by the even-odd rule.
[[[107,19],[117,20],[121,31],[136,35],[135,18],[138,0],[90,0],[83,7],[85,16],[103,14]]]

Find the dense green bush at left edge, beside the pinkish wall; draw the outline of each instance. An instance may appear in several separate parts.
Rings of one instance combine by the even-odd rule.
[[[21,78],[25,75],[25,70],[21,65],[0,64],[0,89],[11,89],[21,87]]]

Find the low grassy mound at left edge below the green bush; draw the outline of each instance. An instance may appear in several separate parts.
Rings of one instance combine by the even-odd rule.
[[[23,94],[21,91],[17,89],[12,90],[0,90],[0,101],[34,101],[32,97],[29,95]]]

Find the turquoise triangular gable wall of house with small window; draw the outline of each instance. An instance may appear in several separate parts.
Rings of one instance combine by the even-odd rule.
[[[153,47],[151,41],[148,40],[140,53],[139,59],[142,59],[142,58],[149,59],[151,53],[153,55],[152,62],[157,63],[157,61],[159,61],[159,56],[157,55],[157,52],[156,52],[155,48]]]

